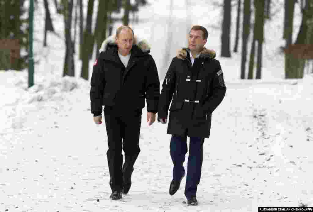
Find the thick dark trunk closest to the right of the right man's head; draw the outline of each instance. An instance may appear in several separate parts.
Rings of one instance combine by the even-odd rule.
[[[231,25],[231,2],[224,0],[223,6],[223,31],[222,31],[222,52],[221,57],[231,57],[230,55],[230,25]]]

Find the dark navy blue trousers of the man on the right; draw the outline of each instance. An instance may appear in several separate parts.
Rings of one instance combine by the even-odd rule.
[[[203,137],[190,137],[189,156],[187,164],[187,179],[185,196],[190,198],[196,196],[197,187],[201,178],[201,167],[203,162]],[[173,135],[170,143],[170,155],[174,164],[173,180],[181,179],[184,174],[183,163],[187,153],[187,136]]]

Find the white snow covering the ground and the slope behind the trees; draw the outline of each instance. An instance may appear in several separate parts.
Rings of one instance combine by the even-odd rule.
[[[134,26],[135,32],[151,42],[161,79],[164,70],[160,69],[166,67],[162,51],[167,33],[158,20],[166,19],[169,5],[162,2],[155,1],[141,12],[140,17],[146,15],[149,22]],[[179,1],[174,2],[174,19],[183,19],[184,8]],[[284,58],[277,53],[284,44],[279,27],[282,12],[270,27],[267,25],[266,32],[271,33],[265,35],[263,79],[242,81],[238,79],[240,54],[232,53],[229,59],[219,57],[220,28],[216,26],[220,11],[205,12],[205,1],[201,2],[192,6],[192,24],[205,25],[205,18],[212,20],[206,25],[211,33],[206,46],[218,52],[227,92],[213,113],[211,137],[204,142],[199,205],[182,203],[186,201],[186,178],[174,196],[168,194],[172,180],[170,135],[166,134],[167,125],[156,122],[147,126],[146,109],[131,190],[121,201],[109,199],[105,123],[98,126],[93,122],[90,83],[78,77],[77,56],[76,77],[62,78],[64,41],[49,34],[49,47],[42,47],[44,13],[39,8],[35,13],[35,86],[27,88],[27,70],[0,71],[1,212],[245,212],[256,211],[258,206],[313,206],[313,76],[283,79]],[[63,19],[53,17],[62,35]],[[187,27],[175,29],[173,37],[182,39]],[[172,44],[172,57],[185,45],[183,42],[175,40]]]

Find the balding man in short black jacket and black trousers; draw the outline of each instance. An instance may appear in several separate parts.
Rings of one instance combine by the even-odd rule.
[[[106,39],[91,76],[91,113],[102,123],[104,105],[108,136],[108,165],[112,200],[131,187],[131,174],[140,152],[139,135],[142,108],[147,102],[147,121],[155,121],[160,81],[156,64],[145,41],[137,41],[128,26],[119,27],[115,37]],[[125,163],[123,165],[122,149]]]

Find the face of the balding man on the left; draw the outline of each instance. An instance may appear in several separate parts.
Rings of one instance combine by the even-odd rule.
[[[115,42],[117,43],[119,52],[123,56],[126,56],[129,54],[131,47],[133,46],[133,33],[130,29],[122,29],[119,36],[115,37]]]

